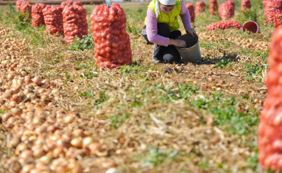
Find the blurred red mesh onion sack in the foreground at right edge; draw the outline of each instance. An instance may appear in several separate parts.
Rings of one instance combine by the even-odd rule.
[[[266,86],[268,96],[258,126],[259,163],[271,170],[282,170],[282,26],[270,44]]]

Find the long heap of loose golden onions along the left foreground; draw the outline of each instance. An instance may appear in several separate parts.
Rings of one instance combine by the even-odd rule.
[[[82,173],[83,157],[108,152],[84,129],[89,120],[56,107],[62,94],[55,83],[28,75],[28,59],[21,56],[25,47],[25,40],[15,38],[0,43],[0,108],[6,111],[0,121],[9,131],[11,151],[3,168],[10,173]]]

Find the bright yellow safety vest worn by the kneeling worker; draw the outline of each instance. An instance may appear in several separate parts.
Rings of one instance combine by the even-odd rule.
[[[155,13],[155,3],[156,0],[152,0],[149,5],[147,6]],[[174,9],[170,13],[164,13],[161,10],[159,10],[158,14],[158,23],[165,23],[169,26],[170,32],[178,30],[179,29],[179,23],[178,23],[178,16],[181,11],[181,0],[176,0],[176,4]],[[147,17],[145,18],[145,25],[146,25]]]

